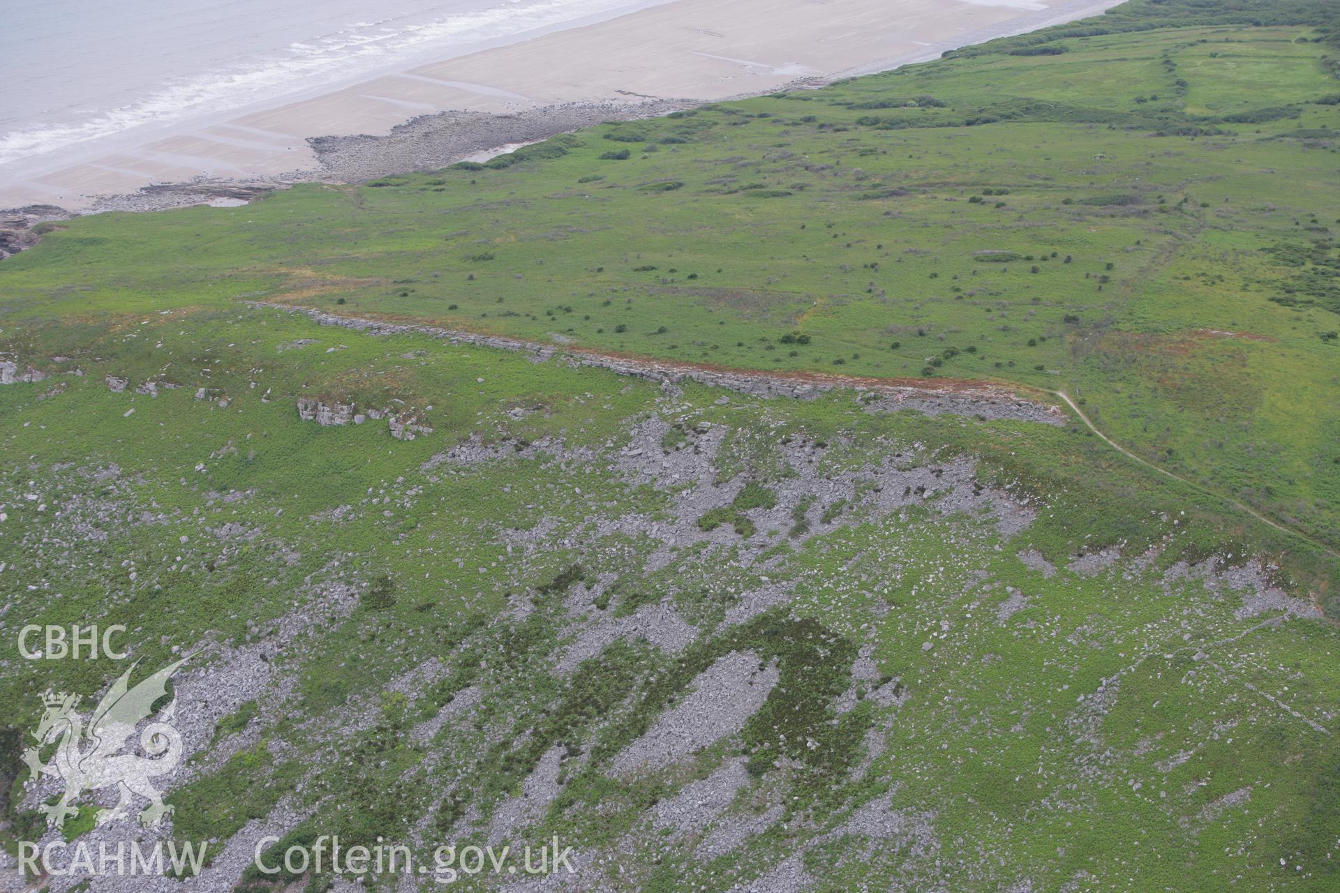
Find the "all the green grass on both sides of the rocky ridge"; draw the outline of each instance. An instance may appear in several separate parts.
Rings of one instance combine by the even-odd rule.
[[[288,841],[484,842],[559,747],[561,791],[520,839],[608,856],[615,886],[726,890],[799,856],[833,890],[1329,890],[1336,627],[1248,616],[1240,590],[1177,573],[1258,560],[1340,616],[1335,554],[1223,498],[1340,541],[1340,347],[1321,337],[1340,329],[1340,106],[1315,102],[1335,51],[1309,9],[1132,3],[1101,28],[484,166],[68,221],[0,264],[0,349],[52,374],[0,388],[0,635],[119,623],[143,667],[208,641],[193,661],[218,672],[229,649],[267,649],[275,681],[214,706],[169,795],[176,839],[221,845],[283,802],[303,818]],[[1242,112],[1261,120],[1222,119]],[[252,300],[1064,388],[1190,483],[1075,418],[662,388]],[[135,392],[150,380],[158,396]],[[431,432],[323,428],[299,398]],[[653,471],[628,471],[647,431]],[[720,498],[683,507],[689,462]],[[1030,522],[1005,536],[974,487],[957,511],[945,495],[878,507],[898,490],[875,469],[959,462]],[[1112,569],[1067,569],[1104,549]],[[758,593],[785,601],[728,623]],[[667,611],[697,631],[678,652],[628,636],[552,669],[583,624]],[[610,771],[740,649],[781,680],[740,734]],[[858,656],[863,696],[839,711]],[[40,692],[91,698],[119,671],[0,665],[0,740],[29,743]],[[706,829],[667,834],[649,810],[726,759],[749,770],[732,814],[785,821],[697,860]],[[0,764],[7,846],[40,833],[24,771]],[[829,834],[880,797],[925,839]],[[92,817],[84,803],[67,833]]]

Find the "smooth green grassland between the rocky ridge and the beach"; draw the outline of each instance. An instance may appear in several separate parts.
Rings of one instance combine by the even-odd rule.
[[[1289,137],[1340,129],[1315,102],[1337,82],[1332,51],[1298,43],[1313,33],[1072,36],[1056,56],[965,54],[595,127],[480,170],[80,218],[0,269],[0,337],[50,367],[95,349],[79,331],[255,299],[738,368],[1064,387],[1140,455],[1337,545],[1340,347],[1323,335],[1340,287],[1333,264],[1272,253],[1337,226],[1336,139]],[[1261,108],[1290,116],[1214,118]],[[1151,135],[1179,129],[1213,135]],[[630,145],[661,149],[600,161]],[[52,340],[43,320],[71,315],[83,329]]]

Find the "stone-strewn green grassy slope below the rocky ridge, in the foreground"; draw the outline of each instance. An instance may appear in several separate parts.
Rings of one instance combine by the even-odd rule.
[[[300,339],[318,343],[288,347]],[[141,349],[159,341],[161,348]],[[339,345],[344,348],[326,352]],[[209,366],[209,380],[230,399],[228,407],[196,400],[190,388],[150,398],[130,390],[113,394],[102,382],[111,371],[142,382],[169,356],[214,353],[221,361]],[[261,710],[244,703],[220,715],[206,755],[232,746],[243,730],[256,728],[260,743],[172,794],[176,838],[224,841],[281,797],[312,811],[304,827],[318,833],[334,829],[350,841],[374,829],[398,834],[395,829],[419,819],[437,821],[446,779],[462,773],[470,782],[453,797],[489,815],[520,790],[537,755],[561,742],[590,752],[588,762],[574,764],[561,798],[529,834],[539,841],[559,833],[588,847],[618,841],[639,826],[651,798],[673,795],[682,779],[667,770],[670,775],[654,782],[616,782],[606,774],[606,760],[654,719],[657,704],[682,696],[698,668],[748,647],[779,655],[784,679],[793,681],[769,700],[744,738],[704,754],[704,771],[730,754],[749,758],[758,795],[780,786],[797,814],[836,822],[844,809],[898,785],[898,803],[937,814],[942,854],[990,843],[1002,853],[1004,873],[1041,872],[1038,878],[1060,882],[1080,868],[1119,872],[1131,878],[1126,889],[1146,889],[1171,882],[1166,860],[1202,865],[1213,877],[1209,872],[1237,865],[1223,846],[1250,841],[1252,877],[1282,884],[1288,876],[1277,872],[1277,860],[1304,860],[1309,873],[1289,878],[1289,885],[1324,889],[1321,876],[1311,872],[1325,858],[1324,835],[1340,821],[1325,799],[1324,763],[1316,763],[1332,752],[1329,739],[1269,702],[1245,699],[1246,689],[1234,679],[1213,685],[1206,680],[1189,695],[1178,683],[1187,669],[1164,667],[1171,659],[1163,655],[1206,649],[1221,665],[1246,673],[1242,677],[1257,689],[1286,699],[1290,710],[1323,716],[1333,708],[1333,627],[1298,621],[1252,633],[1241,647],[1215,645],[1257,621],[1234,616],[1237,596],[1209,596],[1197,584],[1170,600],[1159,574],[1178,560],[1206,554],[1265,554],[1281,562],[1286,586],[1324,597],[1335,565],[1284,534],[1226,513],[1210,495],[1122,461],[1075,423],[867,412],[850,392],[760,402],[689,386],[682,396],[662,396],[651,383],[599,370],[535,364],[425,336],[377,337],[257,309],[150,317],[109,337],[96,356],[100,361],[90,359],[82,378],[0,391],[7,455],[42,457],[7,465],[0,481],[0,502],[9,514],[0,527],[0,561],[7,564],[13,616],[123,623],[137,631],[134,656],[154,665],[169,659],[170,645],[189,649],[204,636],[225,644],[263,641],[295,602],[310,611],[304,605],[323,585],[346,582],[368,592],[379,580],[394,580],[394,604],[322,620],[300,648],[276,657],[281,676],[296,680],[295,696],[281,710],[264,710],[271,696],[257,694]],[[354,371],[422,395],[418,408],[434,406],[427,418],[436,431],[399,442],[387,435],[385,422],[320,428],[297,420],[293,402],[302,383],[314,390]],[[67,387],[46,396],[54,383]],[[449,410],[434,415],[437,407]],[[516,407],[528,411],[516,414]],[[598,536],[591,527],[592,518],[667,519],[673,487],[611,475],[596,458],[618,455],[631,427],[650,412],[693,438],[724,428],[718,477],[748,475],[725,505],[732,522],[744,519],[761,530],[762,513],[779,511],[780,540],[796,525],[793,506],[777,495],[797,471],[780,451],[788,443],[813,444],[815,471],[825,479],[888,455],[909,462],[922,451],[919,462],[931,465],[970,457],[984,485],[1008,486],[1041,509],[1026,532],[1002,544],[994,526],[974,515],[945,518],[921,506],[872,513],[866,489],[840,514],[832,511],[835,501],[811,505],[811,518],[823,514],[825,523],[838,526],[791,540],[789,549],[770,549],[758,532],[732,537],[718,550],[681,544],[669,564],[650,570],[659,540]],[[431,462],[472,435],[505,449],[474,465]],[[598,453],[560,465],[544,453],[531,458],[515,449],[543,442],[552,451],[557,439]],[[106,474],[113,465],[117,470]],[[29,502],[24,493],[40,499]],[[245,495],[225,498],[229,494]],[[47,510],[39,511],[43,505]],[[339,506],[350,510],[336,521],[330,511]],[[99,514],[139,521],[105,521],[105,540],[92,541],[78,560],[67,556],[60,544],[80,537],[87,542]],[[218,540],[210,532],[225,522],[259,533]],[[544,548],[533,554],[507,549],[537,525],[545,532]],[[1130,580],[1085,580],[1064,570],[1047,580],[1014,557],[1032,548],[1064,566],[1080,552],[1108,545],[1128,557],[1150,546],[1162,552],[1147,573]],[[762,564],[765,550],[770,557]],[[749,554],[760,556],[758,564],[750,564]],[[972,576],[977,569],[986,577]],[[738,593],[762,585],[762,576],[793,584],[796,600],[789,620],[773,612],[756,625],[705,635],[683,664],[634,643],[606,649],[571,679],[547,673],[547,661],[561,648],[565,600],[591,598],[583,594],[590,593],[588,582],[616,576],[627,582],[610,584],[614,601],[602,613],[628,616],[669,600],[705,631],[721,621]],[[990,586],[982,588],[982,580]],[[1029,601],[1008,625],[997,625],[994,605],[1004,585],[1022,589]],[[508,605],[517,597],[533,612],[525,621],[509,619]],[[1197,617],[1191,628],[1185,611]],[[941,620],[950,624],[943,637]],[[1100,636],[1095,641],[1101,648],[1093,636]],[[821,656],[813,653],[816,637]],[[925,641],[935,644],[923,651]],[[866,704],[832,724],[824,703],[846,684],[854,643],[872,644],[882,676],[900,679],[913,698],[888,732],[891,755],[878,758],[866,781],[847,781],[863,759],[858,744],[871,723],[890,723],[895,714]],[[799,651],[788,651],[792,644]],[[1136,655],[1148,655],[1151,676],[1139,676],[1139,685],[1134,676],[1123,683],[1119,710],[1103,722],[1119,762],[1097,777],[1084,775],[1072,760],[1083,759],[1088,746],[1059,738],[1067,728],[1059,711],[1063,704],[1073,710],[1072,692],[1092,692],[1099,679],[1122,672]],[[441,681],[414,689],[411,702],[383,700],[387,685],[431,659],[445,665]],[[96,691],[115,669],[99,661],[11,667],[0,675],[0,696],[16,706],[8,722],[21,732],[36,719],[40,691]],[[449,724],[426,743],[406,735],[472,685],[485,699],[470,722]],[[630,692],[655,698],[630,699]],[[1182,719],[1159,719],[1171,707],[1155,708],[1155,702],[1177,704],[1174,715]],[[328,730],[364,715],[377,722],[339,738],[344,759],[322,756]],[[1230,722],[1253,731],[1231,734],[1231,744],[1215,740],[1215,723]],[[528,728],[536,732],[524,735]],[[990,747],[982,746],[985,728],[992,730]],[[1139,744],[1148,736],[1158,742],[1154,750]],[[804,743],[809,739],[813,748]],[[283,742],[283,751],[272,750],[272,742]],[[1290,760],[1297,748],[1316,756],[1297,764]],[[1175,773],[1158,770],[1182,750],[1193,750],[1194,759]],[[437,755],[434,762],[426,762],[429,754]],[[1230,755],[1231,766],[1225,762]],[[779,760],[796,760],[797,768],[779,775],[769,768]],[[1206,773],[1211,783],[1201,787]],[[302,786],[295,785],[299,777]],[[1123,781],[1130,778],[1144,779],[1140,791],[1130,791]],[[1155,785],[1168,791],[1171,811],[1162,799],[1150,799]],[[1181,830],[1182,817],[1197,815],[1206,802],[1244,785],[1253,786],[1253,815],[1260,805],[1277,817],[1277,834],[1260,837],[1250,819],[1235,813],[1214,833]],[[1309,794],[1317,785],[1319,793]],[[327,801],[328,794],[336,797]],[[1053,807],[1053,801],[1063,806]],[[31,817],[20,811],[16,818],[27,827]],[[1012,823],[1016,830],[1008,829]],[[449,819],[438,835],[469,833]],[[1162,858],[1135,857],[1131,847],[1142,833],[1160,835]],[[665,862],[667,854],[653,839],[665,838],[634,847],[628,870],[645,870],[657,858]],[[764,835],[734,868],[717,874],[671,860],[675,868],[665,869],[665,882],[725,889],[770,865],[787,846],[776,834]],[[1043,858],[1057,846],[1067,858]],[[880,860],[844,865],[820,862],[815,870],[839,886],[888,870]],[[946,872],[955,886],[973,889],[966,868]]]

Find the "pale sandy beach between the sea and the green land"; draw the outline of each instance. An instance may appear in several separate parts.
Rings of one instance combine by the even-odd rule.
[[[823,83],[1116,0],[670,0],[318,95],[0,166],[0,208],[153,209],[228,185],[358,182],[610,118]],[[323,138],[323,139],[318,139]],[[186,189],[165,185],[192,185]],[[146,186],[155,186],[139,191]],[[245,197],[245,190],[243,191]]]

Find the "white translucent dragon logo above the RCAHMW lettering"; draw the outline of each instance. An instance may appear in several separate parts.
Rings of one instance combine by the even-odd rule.
[[[47,712],[32,732],[38,747],[27,748],[23,762],[32,770],[32,778],[52,775],[66,782],[60,799],[40,807],[51,827],[63,827],[66,818],[79,813],[74,801],[84,791],[111,786],[119,789],[121,799],[115,807],[98,815],[99,826],[125,818],[130,811],[131,794],[149,801],[149,806],[139,813],[142,825],[157,826],[163,815],[172,814],[173,807],[163,803],[149,779],[170,773],[181,759],[181,735],[170,724],[177,699],[173,698],[139,734],[143,756],[122,751],[135,727],[153,711],[154,702],[168,694],[168,680],[184,661],[185,659],[159,669],[134,688],[129,687],[130,672],[135,668],[131,664],[103,695],[88,718],[87,728],[75,710],[79,695],[47,691],[42,696]],[[58,738],[60,743],[56,744],[51,762],[43,763],[39,748]]]

